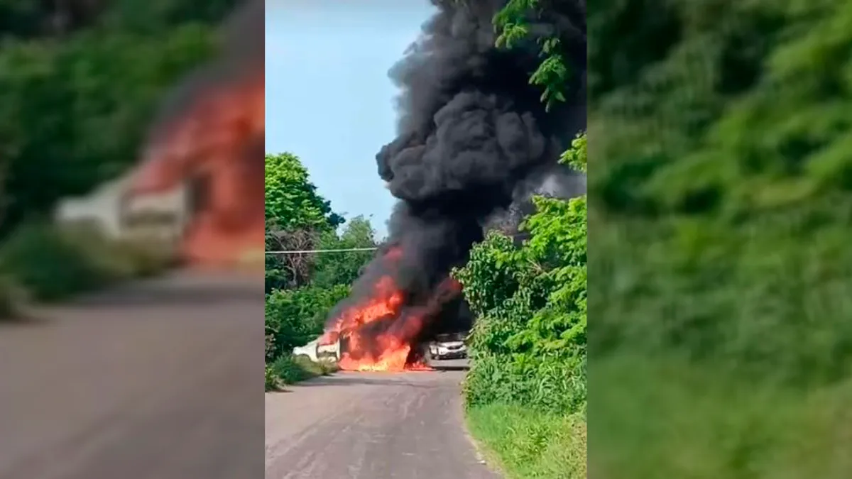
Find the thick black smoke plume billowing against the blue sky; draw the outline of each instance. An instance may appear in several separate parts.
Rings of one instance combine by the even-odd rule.
[[[494,46],[492,19],[505,1],[432,3],[438,13],[389,73],[401,89],[398,134],[376,157],[379,176],[399,199],[389,245],[401,257],[379,255],[332,312],[329,328],[383,275],[406,291],[406,304],[428,301],[494,216],[523,209],[532,193],[584,190],[584,180],[557,164],[585,127],[584,0],[542,0],[548,13],[532,14],[532,38],[511,49]],[[542,60],[538,38],[552,36],[561,38],[572,76],[568,101],[548,112],[529,78]],[[403,314],[389,323],[405,320]],[[451,301],[416,339],[464,329],[470,320],[463,302]]]

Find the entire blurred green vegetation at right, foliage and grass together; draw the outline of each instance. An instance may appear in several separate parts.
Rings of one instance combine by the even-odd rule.
[[[849,477],[852,5],[588,18],[590,468]]]

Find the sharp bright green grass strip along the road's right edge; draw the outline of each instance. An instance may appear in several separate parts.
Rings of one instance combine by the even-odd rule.
[[[489,404],[469,407],[467,422],[488,463],[509,479],[586,477],[586,424],[581,415]]]

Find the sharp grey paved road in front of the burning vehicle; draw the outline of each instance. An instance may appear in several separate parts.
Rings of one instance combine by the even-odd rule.
[[[497,479],[463,430],[463,375],[338,373],[267,394],[267,479]]]

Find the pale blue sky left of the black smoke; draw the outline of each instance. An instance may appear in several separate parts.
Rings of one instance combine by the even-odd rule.
[[[357,6],[355,5],[357,3]],[[331,207],[387,231],[375,155],[393,140],[388,70],[429,19],[426,0],[266,4],[266,151],[296,154]]]

